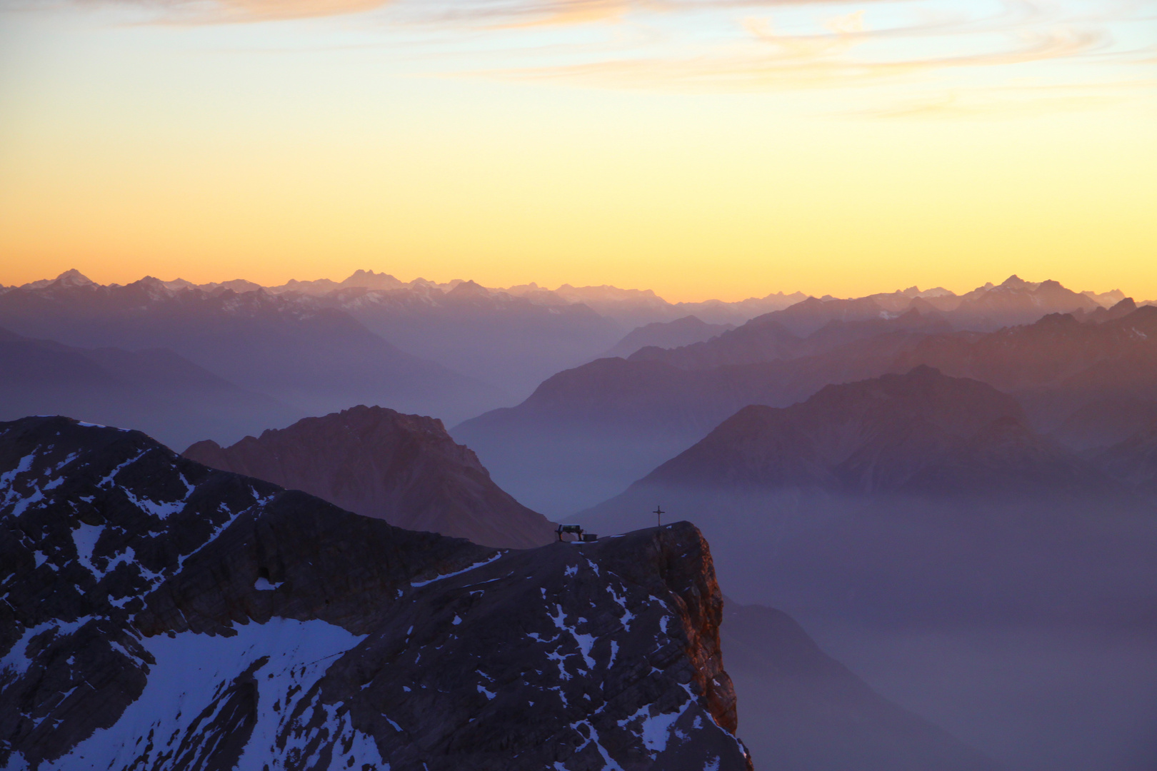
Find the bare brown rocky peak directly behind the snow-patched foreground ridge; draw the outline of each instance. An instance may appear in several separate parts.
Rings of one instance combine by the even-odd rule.
[[[198,442],[184,455],[398,527],[515,549],[555,540],[554,525],[502,491],[433,417],[359,406],[230,447]]]

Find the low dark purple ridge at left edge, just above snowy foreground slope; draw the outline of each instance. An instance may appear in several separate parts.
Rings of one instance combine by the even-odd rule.
[[[288,405],[241,388],[165,348],[78,348],[0,329],[0,420],[75,415],[175,446],[237,439],[294,420]]]

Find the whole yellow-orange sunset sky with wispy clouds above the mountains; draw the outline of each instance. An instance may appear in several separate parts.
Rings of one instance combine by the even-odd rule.
[[[0,0],[0,284],[1157,298],[1157,0]]]

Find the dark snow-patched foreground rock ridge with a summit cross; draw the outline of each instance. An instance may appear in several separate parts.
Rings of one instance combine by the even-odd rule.
[[[0,766],[750,769],[706,542],[499,551],[0,424]]]

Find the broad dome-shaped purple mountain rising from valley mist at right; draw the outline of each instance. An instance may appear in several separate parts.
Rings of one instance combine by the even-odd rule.
[[[1090,464],[1026,422],[992,386],[918,366],[830,385],[791,407],[745,407],[638,484],[931,497],[1108,491]]]

